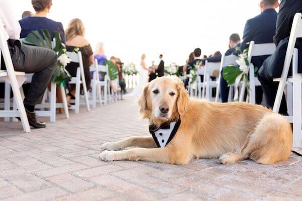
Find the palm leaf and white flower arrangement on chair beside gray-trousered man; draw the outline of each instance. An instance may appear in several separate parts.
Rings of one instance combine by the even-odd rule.
[[[23,40],[25,45],[44,47],[52,49],[56,52],[58,57],[57,68],[52,74],[51,81],[59,84],[65,85],[66,81],[71,79],[69,72],[65,69],[66,65],[70,63],[69,57],[66,55],[65,44],[62,43],[59,32],[54,31],[55,45],[52,47],[52,39],[50,33],[47,29],[42,29],[42,35],[38,31],[32,31],[27,37]],[[75,48],[72,52],[78,53],[79,48]]]

